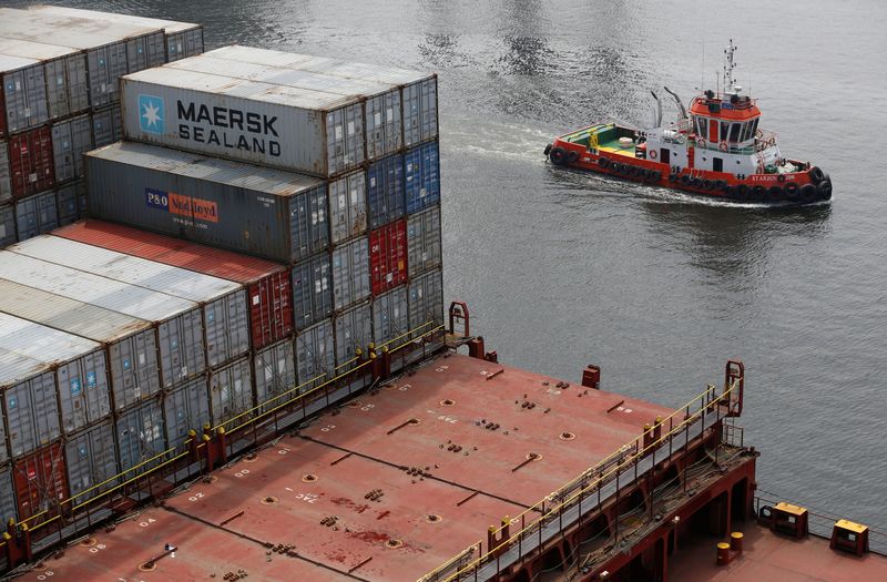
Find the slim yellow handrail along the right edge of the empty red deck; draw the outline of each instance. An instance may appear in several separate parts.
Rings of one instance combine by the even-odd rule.
[[[466,564],[465,566],[462,566],[461,569],[459,569],[455,573],[449,574],[446,578],[440,578],[441,575],[446,575],[445,574],[446,571],[451,569],[452,564],[455,563],[453,560],[448,560],[447,562],[445,562],[440,566],[436,568],[435,570],[432,570],[429,573],[427,573],[424,576],[421,576],[419,580],[422,581],[422,582],[432,582],[432,581],[435,581],[435,582],[452,582],[452,581],[459,580],[463,574],[467,574],[467,573],[469,573],[471,571],[477,571],[481,566],[486,565],[487,563],[492,562],[493,560],[497,559],[497,557],[503,550],[510,548],[514,542],[520,542],[520,540],[526,534],[534,533],[538,528],[543,527],[544,524],[549,523],[553,518],[562,514],[562,512],[564,510],[571,508],[574,504],[575,501],[581,500],[582,497],[587,492],[589,492],[589,491],[591,491],[593,489],[600,490],[604,484],[611,482],[614,477],[618,477],[619,474],[621,474],[621,471],[625,468],[625,466],[622,462],[622,460],[624,460],[624,459],[622,459],[620,462],[618,462],[614,468],[605,470],[605,471],[601,469],[602,464],[609,464],[613,460],[614,457],[618,457],[620,455],[624,455],[629,450],[636,451],[634,455],[626,457],[626,458],[630,458],[634,463],[636,463],[639,460],[643,459],[649,452],[655,451],[655,449],[657,449],[666,440],[670,440],[674,435],[677,435],[681,431],[689,429],[690,425],[694,423],[697,419],[702,418],[702,416],[704,415],[704,411],[705,411],[706,408],[710,408],[712,405],[720,406],[721,404],[724,402],[724,400],[726,400],[727,402],[731,402],[731,398],[730,397],[733,395],[733,391],[738,388],[738,386],[740,386],[740,380],[738,379],[734,379],[732,381],[731,386],[728,386],[728,387],[725,386],[725,390],[720,396],[714,396],[714,397],[713,397],[714,387],[713,386],[708,386],[708,388],[706,388],[706,390],[704,392],[697,395],[695,398],[690,400],[690,402],[687,402],[684,407],[675,409],[666,418],[664,418],[661,421],[659,421],[655,427],[651,428],[650,430],[644,431],[641,435],[641,437],[632,440],[629,443],[623,445],[618,450],[615,450],[614,452],[612,452],[608,457],[605,457],[602,461],[599,461],[595,466],[590,467],[589,469],[587,469],[585,471],[580,473],[574,479],[568,481],[565,484],[561,486],[557,491],[554,491],[553,493],[550,493],[549,496],[543,498],[541,501],[534,503],[532,507],[530,507],[527,510],[524,510],[522,513],[517,515],[514,519],[510,519],[508,521],[508,523],[503,523],[498,529],[495,529],[495,530],[491,529],[490,530],[490,539],[496,539],[497,537],[502,534],[504,532],[506,528],[509,528],[511,523],[517,523],[518,520],[520,520],[520,523],[521,523],[521,529],[517,533],[510,535],[507,540],[503,540],[502,542],[498,543],[496,547],[488,548],[486,554],[479,555],[473,561],[471,561],[470,563]],[[702,406],[700,407],[700,409],[697,411],[695,411],[694,413],[691,415],[690,413],[690,409],[696,402],[701,402]],[[684,418],[681,420],[681,422],[677,423],[677,426],[674,426],[674,422],[673,422],[674,418],[679,413],[682,413],[682,412],[684,412]],[[641,442],[641,439],[643,439],[645,437],[649,438],[651,435],[654,433],[656,428],[662,427],[666,420],[669,421],[669,427],[670,427],[669,431],[665,435],[661,436],[659,439],[652,441],[646,447],[640,448],[639,442]],[[564,499],[563,501],[560,501],[554,506],[549,506],[548,508],[546,508],[546,502],[547,501],[550,502],[552,499],[558,499],[558,497],[562,496],[562,492],[571,490],[571,488],[573,488],[573,486],[577,482],[585,479],[589,474],[594,474],[594,473],[600,473],[595,480],[593,480],[592,482],[590,482],[588,484],[584,484],[578,491],[571,492],[571,494],[569,497],[567,497],[567,499]],[[540,515],[538,518],[533,519],[529,524],[526,524],[527,515],[530,514],[530,513],[533,513],[533,512],[537,512]],[[482,543],[482,541],[478,541],[473,545],[475,547],[480,547],[481,543]],[[521,555],[521,558],[522,558],[522,555]]]

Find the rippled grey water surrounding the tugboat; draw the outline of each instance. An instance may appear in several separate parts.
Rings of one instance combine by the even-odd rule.
[[[446,295],[488,349],[568,380],[594,363],[605,389],[671,406],[741,358],[761,489],[887,525],[886,3],[65,4],[200,21],[207,48],[437,71]],[[700,202],[546,163],[559,133],[648,123],[650,90],[713,86],[730,38],[762,126],[832,175],[830,204]]]

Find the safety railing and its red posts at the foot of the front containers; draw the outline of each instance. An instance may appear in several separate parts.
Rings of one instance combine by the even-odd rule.
[[[175,473],[176,464],[179,461],[182,461],[186,457],[195,457],[195,452],[200,452],[204,450],[208,446],[208,441],[212,440],[210,435],[216,433],[226,433],[233,435],[241,430],[244,430],[251,426],[255,427],[268,419],[275,417],[282,411],[292,410],[295,406],[302,405],[303,410],[309,404],[314,404],[324,395],[329,394],[329,388],[335,387],[339,382],[344,382],[344,380],[350,380],[350,377],[358,375],[360,372],[368,371],[367,368],[371,366],[375,359],[378,357],[377,349],[388,354],[390,356],[395,356],[398,354],[405,353],[406,348],[409,346],[420,346],[421,350],[419,355],[415,359],[422,359],[424,357],[429,356],[432,351],[426,351],[426,346],[434,345],[432,350],[439,348],[437,344],[434,343],[435,335],[442,335],[445,326],[442,324],[437,324],[435,321],[426,321],[425,324],[410,329],[409,331],[392,338],[389,341],[386,341],[380,346],[380,348],[373,349],[368,351],[367,358],[363,358],[358,356],[353,358],[345,364],[337,366],[333,370],[333,377],[326,379],[322,384],[309,388],[314,382],[326,378],[328,375],[318,375],[309,380],[302,382],[298,386],[290,388],[289,390],[279,394],[273,398],[269,398],[263,401],[261,405],[251,408],[239,415],[225,420],[214,427],[206,426],[204,427],[204,432],[202,435],[193,433],[191,437],[183,439],[182,442],[174,447],[170,447],[166,450],[154,455],[153,457],[141,461],[139,464],[126,469],[104,481],[96,483],[89,489],[80,491],[77,494],[69,497],[60,501],[57,504],[53,504],[52,508],[44,509],[33,515],[30,515],[21,521],[13,522],[10,520],[8,522],[8,531],[4,532],[2,540],[0,540],[0,548],[4,548],[7,543],[12,539],[13,534],[20,533],[23,531],[29,532],[32,539],[40,539],[41,541],[44,538],[38,538],[35,532],[40,530],[44,530],[49,525],[57,524],[58,525],[58,539],[57,541],[63,541],[65,538],[70,538],[74,532],[82,531],[83,529],[89,528],[92,524],[91,517],[98,509],[105,509],[108,512],[108,508],[98,508],[96,506],[100,502],[108,502],[112,499],[115,499],[120,493],[124,491],[128,492],[136,492],[136,491],[151,491],[153,494],[154,486],[156,484],[157,480],[166,479],[171,473]],[[431,338],[429,340],[429,338]],[[442,341],[440,343],[442,345]],[[411,354],[411,351],[410,351]],[[406,357],[406,356],[405,356]],[[406,361],[406,360],[404,360]],[[348,368],[346,371],[339,372],[343,368]],[[327,402],[327,405],[333,402]],[[272,406],[269,409],[265,409],[266,407]],[[325,408],[325,407],[324,407]],[[263,410],[264,409],[264,410]],[[304,417],[303,417],[304,418]],[[197,443],[194,448],[182,451],[182,445],[188,445],[192,442],[192,439],[202,439],[200,443]],[[254,442],[258,443],[257,441]],[[196,459],[198,460],[198,459]],[[193,462],[196,462],[193,461]],[[155,464],[156,463],[156,464]],[[172,471],[171,471],[172,469]],[[177,469],[181,470],[181,469]],[[187,476],[183,477],[182,479],[177,479],[176,482],[183,482],[188,478],[193,478],[194,474],[198,471],[194,471],[188,473]],[[169,487],[167,490],[171,490],[174,483],[166,482]],[[105,519],[109,515],[102,515],[101,519]],[[69,528],[72,523],[75,523],[78,520],[85,519],[86,522],[83,527],[77,527],[73,531],[69,532],[68,534],[64,533],[64,529]],[[96,520],[96,521],[100,521]],[[50,534],[51,535],[51,532]]]

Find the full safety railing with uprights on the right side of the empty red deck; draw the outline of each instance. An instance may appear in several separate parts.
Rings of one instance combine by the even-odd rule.
[[[625,473],[633,473],[632,482],[638,480],[639,464],[646,461],[649,467],[655,467],[656,462],[664,461],[675,452],[675,438],[683,436],[683,445],[679,443],[677,450],[686,451],[691,446],[690,429],[697,422],[703,423],[695,438],[705,437],[705,420],[708,415],[711,420],[714,415],[716,426],[722,419],[736,413],[742,408],[742,378],[734,378],[725,382],[724,390],[718,395],[714,386],[708,386],[706,390],[684,407],[676,409],[665,418],[657,418],[655,425],[649,427],[640,437],[620,447],[605,459],[587,469],[577,478],[561,486],[557,491],[533,504],[513,519],[507,520],[499,528],[491,528],[488,534],[487,552],[483,553],[482,540],[473,544],[477,548],[478,557],[471,562],[461,565],[459,560],[449,560],[445,564],[436,568],[428,574],[419,579],[420,582],[453,582],[461,580],[485,580],[501,573],[503,566],[520,563],[523,560],[536,555],[542,551],[544,542],[544,530],[554,525],[557,521],[557,532],[560,535],[565,533],[564,528],[569,528],[584,514],[600,510],[602,504],[608,501],[602,489],[612,483],[615,484],[615,492],[619,492],[620,477]],[[726,407],[726,410],[724,409]],[[667,426],[667,431],[662,430]],[[667,450],[667,456],[656,461],[656,452]],[[717,449],[715,449],[717,455]],[[585,504],[583,509],[583,503]],[[575,519],[564,519],[571,510],[577,509]],[[510,534],[511,527],[519,527],[519,530]],[[502,557],[507,552],[514,552],[504,562]],[[480,576],[481,570],[489,568],[491,576]]]

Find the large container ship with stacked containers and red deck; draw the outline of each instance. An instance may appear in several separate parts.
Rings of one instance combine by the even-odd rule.
[[[758,489],[741,361],[669,408],[445,310],[436,75],[0,12],[6,576],[887,579]]]

